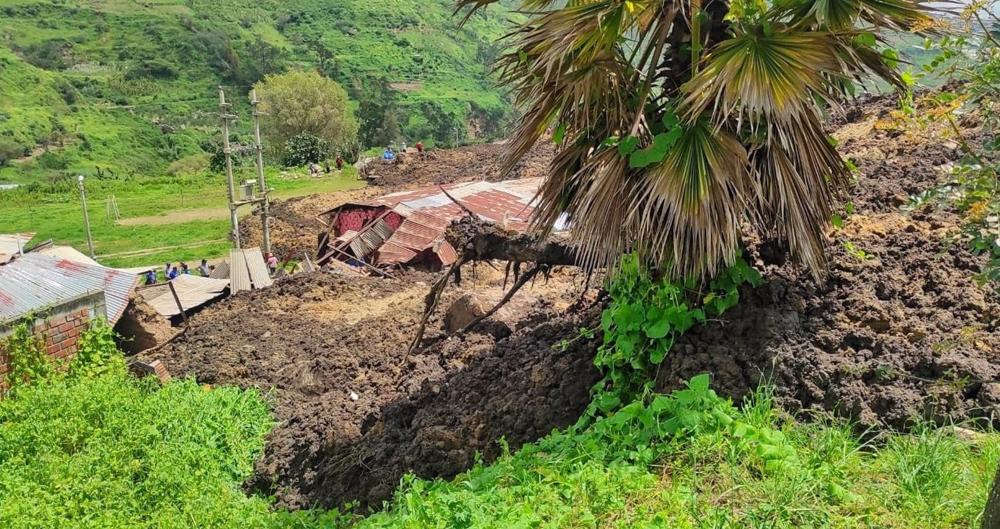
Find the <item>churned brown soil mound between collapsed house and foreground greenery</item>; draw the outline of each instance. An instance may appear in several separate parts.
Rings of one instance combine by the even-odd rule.
[[[476,275],[446,291],[429,342],[463,294],[487,307],[500,298],[502,274]],[[301,274],[195,316],[147,360],[208,384],[275,390],[278,425],[251,485],[286,506],[379,502],[407,471],[451,476],[477,451],[495,455],[501,436],[516,447],[579,416],[597,377],[594,345],[553,347],[598,319],[599,308],[574,308],[575,273],[540,280],[470,334],[404,360],[432,279]]]

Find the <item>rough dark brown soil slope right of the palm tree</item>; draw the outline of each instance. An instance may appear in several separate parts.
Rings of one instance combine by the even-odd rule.
[[[975,279],[984,259],[952,240],[955,215],[899,209],[946,180],[943,166],[959,152],[927,131],[876,127],[893,104],[871,101],[835,132],[860,178],[855,214],[829,247],[829,281],[817,287],[793,266],[759,261],[767,284],[683,336],[660,389],[711,372],[739,398],[771,380],[787,409],[832,410],[865,426],[957,421],[1000,404],[1000,297]]]

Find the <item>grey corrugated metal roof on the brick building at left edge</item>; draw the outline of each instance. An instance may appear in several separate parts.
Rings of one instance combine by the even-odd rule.
[[[138,282],[138,276],[121,270],[29,253],[0,266],[0,321],[103,291],[114,325]]]

